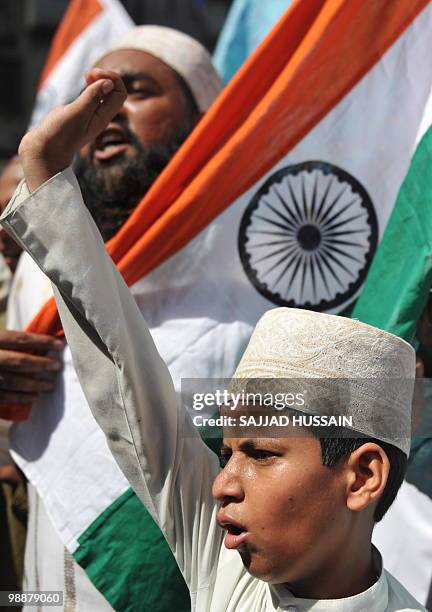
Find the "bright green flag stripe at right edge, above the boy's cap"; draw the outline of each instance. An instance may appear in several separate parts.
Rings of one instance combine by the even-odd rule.
[[[411,160],[351,316],[411,342],[431,286],[432,128]]]

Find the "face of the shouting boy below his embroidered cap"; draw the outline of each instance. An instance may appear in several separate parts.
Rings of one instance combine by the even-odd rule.
[[[238,550],[253,576],[293,587],[319,575],[350,529],[343,462],[323,466],[319,440],[295,432],[225,438],[226,465],[213,484],[227,548]]]

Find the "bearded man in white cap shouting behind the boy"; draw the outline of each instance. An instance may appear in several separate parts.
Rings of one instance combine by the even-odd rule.
[[[199,43],[180,32],[156,26],[135,28],[96,66],[120,73],[127,88],[122,108],[75,161],[88,208],[104,239],[109,240],[208,109],[221,84],[208,53]],[[141,305],[144,302],[142,284],[137,283],[132,290]],[[23,255],[9,302],[9,328],[23,329],[50,295],[51,286],[46,278],[31,258]],[[29,421],[15,428],[12,444],[14,459],[29,479],[24,588],[63,591],[64,606],[68,610],[111,610],[111,605],[59,538],[52,510],[48,515],[43,501],[52,494],[50,474],[41,476],[37,466],[45,450],[59,444],[59,432],[63,430],[69,432],[69,437],[79,438],[82,431],[88,433],[88,428],[80,429],[83,421],[88,427],[93,426],[69,351],[49,336],[4,332],[0,337],[0,380],[2,403],[34,402]],[[100,442],[98,434],[94,435]],[[117,467],[106,446],[87,440],[83,444],[88,463],[100,464],[102,482],[89,483],[89,488],[96,487],[102,495],[104,487],[110,485],[103,482],[104,474]],[[65,447],[63,452],[70,455],[71,449]],[[71,481],[71,474],[66,470],[65,490],[72,486]],[[86,493],[85,490],[77,492],[82,496]],[[57,523],[61,513],[61,499],[58,499],[54,517]],[[64,517],[65,522],[68,519]],[[115,538],[121,541],[121,530],[115,533]],[[152,562],[160,567],[140,576],[140,609],[186,610],[190,606],[189,596],[162,536],[157,546],[159,551],[165,546],[165,552],[157,559],[147,560],[149,567]],[[151,557],[153,552],[154,548],[143,550],[142,556]],[[152,584],[155,574],[159,574],[158,589]],[[131,602],[125,605],[127,608]]]

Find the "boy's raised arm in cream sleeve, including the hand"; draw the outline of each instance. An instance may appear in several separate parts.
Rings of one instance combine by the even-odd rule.
[[[193,437],[168,369],[68,168],[126,96],[113,73],[92,71],[87,80],[75,102],[53,111],[23,139],[27,184],[20,185],[2,224],[52,280],[94,416],[193,593],[208,585],[222,541],[211,496],[218,460]]]

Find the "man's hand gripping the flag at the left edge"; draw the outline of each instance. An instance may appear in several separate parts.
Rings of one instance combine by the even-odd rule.
[[[63,347],[52,336],[0,331],[0,404],[30,404],[51,391],[62,364],[47,353]]]

